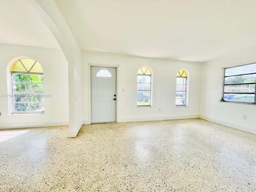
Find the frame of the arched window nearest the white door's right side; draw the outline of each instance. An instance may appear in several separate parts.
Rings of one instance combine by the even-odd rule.
[[[145,73],[142,71],[144,74],[138,74],[138,72],[137,72],[137,107],[139,107],[139,108],[140,107],[152,107],[152,79],[153,79],[152,70],[148,66],[142,66],[138,70],[140,70],[143,67],[147,68],[147,70],[150,71],[150,74],[145,74],[147,70],[145,71]],[[150,90],[138,89],[138,83],[139,83],[138,76],[146,76],[146,77],[150,76]],[[149,105],[138,105],[138,99],[141,99],[141,98],[138,98],[138,92],[150,92],[150,98],[145,98],[145,99],[149,99],[149,101],[150,101]]]

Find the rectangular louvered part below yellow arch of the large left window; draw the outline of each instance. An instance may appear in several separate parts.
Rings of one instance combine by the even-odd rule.
[[[42,74],[12,73],[13,113],[44,112]]]

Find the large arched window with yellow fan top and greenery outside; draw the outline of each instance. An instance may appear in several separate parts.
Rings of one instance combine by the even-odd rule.
[[[44,80],[42,66],[23,58],[11,68],[12,113],[44,113]]]

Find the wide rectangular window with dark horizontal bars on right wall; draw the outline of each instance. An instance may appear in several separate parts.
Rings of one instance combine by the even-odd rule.
[[[225,69],[223,101],[256,104],[256,63]]]

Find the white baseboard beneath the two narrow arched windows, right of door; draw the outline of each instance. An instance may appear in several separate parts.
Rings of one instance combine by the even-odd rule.
[[[198,118],[198,115],[180,115],[180,116],[156,116],[156,117],[134,117],[134,118],[119,118],[118,122],[138,122],[138,121],[159,121],[172,119],[192,119]]]

